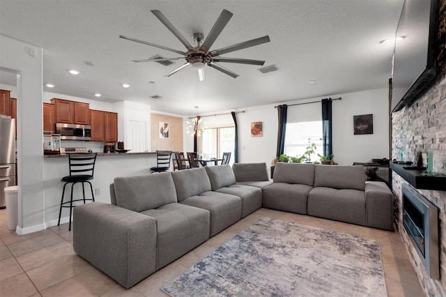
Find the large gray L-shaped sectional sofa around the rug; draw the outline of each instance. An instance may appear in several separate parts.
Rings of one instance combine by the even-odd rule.
[[[362,170],[361,170],[362,169]],[[130,288],[263,207],[392,229],[392,192],[364,167],[220,165],[114,178],[112,204],[74,211],[73,248]]]

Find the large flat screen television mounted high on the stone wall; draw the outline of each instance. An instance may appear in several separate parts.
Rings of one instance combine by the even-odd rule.
[[[438,0],[405,0],[392,62],[392,112],[410,104],[436,76]]]

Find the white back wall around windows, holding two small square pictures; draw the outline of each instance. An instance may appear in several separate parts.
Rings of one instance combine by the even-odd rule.
[[[367,162],[371,158],[388,158],[388,90],[376,89],[355,93],[335,94],[324,98],[339,98],[332,102],[333,112],[333,154],[339,165],[352,165],[353,162]],[[283,102],[311,102],[322,98],[308,98]],[[248,107],[245,113],[237,114],[238,122],[238,162],[266,162],[269,166],[275,158],[277,150],[277,109],[275,105]],[[217,112],[226,113],[231,111]],[[311,121],[321,119],[321,103],[291,106],[288,108],[289,122]],[[353,116],[360,114],[374,115],[373,135],[353,135]],[[204,116],[206,114],[200,114]],[[193,116],[193,115],[192,115]],[[188,117],[185,117],[185,121]],[[233,125],[231,114],[203,117],[205,126]],[[254,121],[263,122],[263,136],[251,137],[250,124]],[[185,151],[193,150],[193,139],[186,134]]]

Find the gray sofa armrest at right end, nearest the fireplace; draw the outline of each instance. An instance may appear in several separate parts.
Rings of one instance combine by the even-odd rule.
[[[366,181],[365,208],[366,225],[379,229],[393,230],[393,195],[382,181]]]

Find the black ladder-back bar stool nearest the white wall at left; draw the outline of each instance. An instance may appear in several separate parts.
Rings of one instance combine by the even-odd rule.
[[[93,154],[90,153],[86,155],[80,155],[80,154],[68,155],[68,166],[70,169],[70,175],[63,176],[63,178],[61,179],[61,181],[65,182],[65,184],[63,185],[63,190],[62,190],[61,208],[59,209],[59,221],[57,222],[57,225],[59,226],[59,224],[61,224],[62,208],[69,207],[70,208],[70,225],[68,227],[69,231],[71,231],[72,208],[75,207],[75,205],[72,205],[72,203],[75,201],[84,201],[85,204],[86,201],[95,201],[95,196],[93,194],[93,185],[91,185],[90,181],[93,179],[96,155],[97,155],[96,153]],[[63,197],[65,195],[65,187],[68,183],[72,183],[71,197],[70,201],[64,202]],[[82,183],[82,194],[83,194],[82,199],[72,199],[72,192],[76,183]],[[85,198],[84,183],[89,183],[90,185],[91,199]]]

